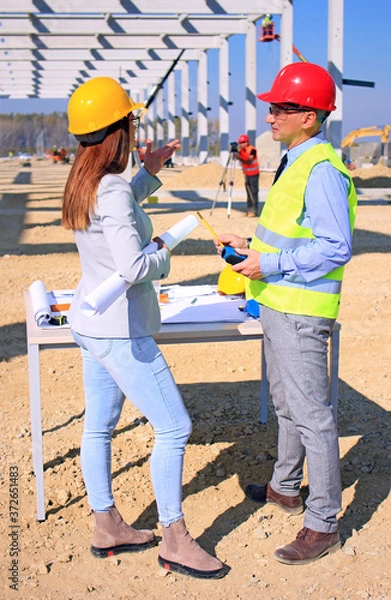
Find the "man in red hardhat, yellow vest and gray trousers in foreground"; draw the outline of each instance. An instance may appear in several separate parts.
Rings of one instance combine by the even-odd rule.
[[[246,496],[285,513],[304,511],[296,539],[274,557],[307,564],[341,547],[342,508],[336,407],[329,397],[328,345],[338,315],[344,265],[352,256],[357,195],[348,169],[327,142],[322,123],[335,110],[335,83],[319,65],[292,63],[277,74],[266,123],[287,147],[250,243],[221,242],[247,258],[247,301],[259,305],[267,377],[278,422],[278,457],[269,481]],[[309,495],[300,493],[304,460]]]

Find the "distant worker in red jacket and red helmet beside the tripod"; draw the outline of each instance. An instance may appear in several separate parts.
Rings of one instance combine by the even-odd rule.
[[[235,158],[237,158],[242,164],[242,171],[246,185],[246,217],[257,217],[259,193],[259,165],[257,149],[250,144],[248,135],[244,133],[239,136],[238,145],[239,151],[235,153]]]

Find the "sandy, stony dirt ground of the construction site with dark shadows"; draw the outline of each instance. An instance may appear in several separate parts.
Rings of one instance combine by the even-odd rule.
[[[23,293],[36,279],[47,289],[77,284],[78,256],[72,235],[60,224],[68,170],[69,165],[49,161],[30,167],[16,160],[0,163],[0,598],[390,599],[391,169],[378,165],[354,173],[360,192],[354,257],[346,269],[338,319],[340,552],[301,567],[276,562],[274,549],[295,537],[303,518],[259,509],[245,499],[243,487],[267,481],[276,458],[272,407],[267,424],[258,419],[259,343],[163,347],[194,427],[185,459],[186,520],[193,536],[231,567],[216,582],[167,574],[157,564],[157,547],[107,560],[90,555],[91,518],[79,464],[83,390],[76,349],[41,353],[47,519],[36,520]],[[157,204],[145,204],[156,234],[178,217],[202,210],[216,231],[251,236],[255,220],[244,216],[240,173],[230,218],[226,192],[209,214],[221,172],[218,165],[164,169],[165,193],[158,193]],[[270,173],[261,177],[262,198],[271,178]],[[199,190],[209,190],[209,196]],[[194,192],[190,200],[189,191]],[[222,267],[209,232],[200,225],[174,251],[168,283],[216,283]],[[152,444],[150,425],[127,403],[113,440],[116,503],[128,522],[158,534],[149,477]],[[13,574],[18,589],[10,587]]]

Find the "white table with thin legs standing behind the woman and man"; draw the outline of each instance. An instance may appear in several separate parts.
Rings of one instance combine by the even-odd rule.
[[[32,310],[31,297],[25,292],[27,352],[30,388],[31,439],[33,445],[33,468],[36,478],[37,520],[44,521],[45,495],[43,479],[42,412],[40,383],[40,350],[76,348],[71,331],[67,327],[43,329],[37,326]],[[330,400],[336,410],[338,399],[339,334],[341,326],[335,323],[330,341]],[[263,347],[263,331],[258,320],[242,323],[172,323],[163,324],[154,336],[160,344],[195,344],[207,342],[261,341],[261,393],[260,422],[267,422],[269,387]]]

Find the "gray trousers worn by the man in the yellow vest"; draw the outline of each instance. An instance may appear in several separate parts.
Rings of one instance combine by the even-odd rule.
[[[334,320],[261,306],[267,378],[278,419],[278,459],[270,484],[295,496],[307,460],[304,526],[337,530],[341,476],[337,424],[329,399],[328,341]]]

